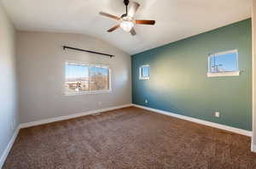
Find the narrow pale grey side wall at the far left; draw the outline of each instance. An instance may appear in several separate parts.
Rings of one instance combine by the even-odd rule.
[[[15,27],[0,2],[0,158],[19,124],[15,76]],[[11,127],[15,122],[15,127]],[[0,163],[3,159],[1,159]],[[1,167],[1,164],[0,164]]]

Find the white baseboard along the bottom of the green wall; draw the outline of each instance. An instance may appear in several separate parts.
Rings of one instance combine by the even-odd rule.
[[[215,122],[203,121],[203,120],[196,119],[196,118],[189,117],[189,116],[185,116],[185,115],[177,115],[177,114],[169,112],[169,111],[156,110],[156,109],[148,108],[146,106],[142,106],[142,105],[138,105],[138,104],[133,104],[133,105],[135,107],[138,107],[138,108],[141,108],[141,109],[144,109],[144,110],[150,110],[150,111],[154,111],[156,113],[160,113],[160,114],[163,114],[163,115],[169,115],[169,116],[177,117],[179,119],[183,119],[183,120],[186,120],[186,121],[196,122],[196,123],[199,123],[199,124],[202,124],[202,125],[206,125],[208,127],[215,127],[215,128],[218,128],[218,129],[229,131],[229,132],[236,132],[238,134],[249,136],[249,137],[252,137],[252,135],[253,135],[253,132],[243,130],[243,129],[240,129],[240,128],[228,127],[228,126],[221,125],[221,124],[218,124],[218,123],[215,123]],[[255,152],[256,152],[256,147],[255,147]]]

